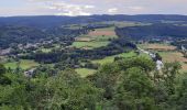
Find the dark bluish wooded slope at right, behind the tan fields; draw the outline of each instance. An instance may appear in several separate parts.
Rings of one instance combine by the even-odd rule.
[[[144,26],[118,28],[120,36],[129,36],[133,40],[146,40],[155,36],[187,37],[187,26],[155,23]]]

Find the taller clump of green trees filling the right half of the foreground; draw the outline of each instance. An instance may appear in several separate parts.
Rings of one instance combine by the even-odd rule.
[[[185,110],[187,75],[182,78],[179,68],[173,63],[156,72],[155,64],[143,57],[120,59],[88,79],[105,90],[103,110]]]

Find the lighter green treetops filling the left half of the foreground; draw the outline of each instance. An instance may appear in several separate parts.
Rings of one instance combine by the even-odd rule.
[[[25,78],[7,74],[12,84],[0,86],[0,108],[18,110],[95,110],[102,90],[80,78],[74,70],[54,77]],[[91,100],[91,101],[90,101]],[[15,109],[16,110],[16,109]]]

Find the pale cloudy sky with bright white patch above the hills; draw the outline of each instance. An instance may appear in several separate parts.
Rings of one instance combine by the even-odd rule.
[[[0,16],[185,14],[187,0],[0,0]]]

